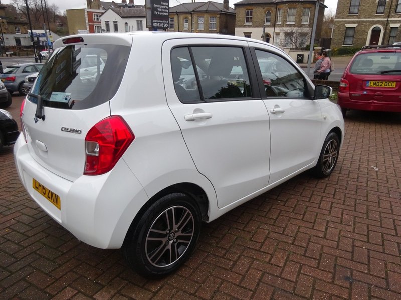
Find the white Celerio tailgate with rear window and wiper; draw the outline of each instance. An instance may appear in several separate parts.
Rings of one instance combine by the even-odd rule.
[[[87,132],[110,116],[109,101],[120,86],[132,38],[88,34],[66,40],[56,42],[26,98],[22,120],[34,159],[74,181],[84,171]],[[90,78],[82,71],[88,58]]]

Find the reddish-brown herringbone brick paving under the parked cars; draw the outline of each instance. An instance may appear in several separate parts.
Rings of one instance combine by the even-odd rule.
[[[185,266],[156,281],[42,212],[6,147],[0,298],[401,299],[401,115],[353,112],[346,133],[330,178],[299,175],[205,224]]]

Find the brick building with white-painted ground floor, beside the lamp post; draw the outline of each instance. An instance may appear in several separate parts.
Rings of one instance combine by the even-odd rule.
[[[299,48],[310,43],[316,6],[317,24],[323,22],[324,0],[243,0],[234,4],[235,35],[255,38],[279,47]],[[317,26],[315,44],[321,27]]]

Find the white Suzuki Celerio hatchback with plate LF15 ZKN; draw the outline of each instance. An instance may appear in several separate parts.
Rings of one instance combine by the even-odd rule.
[[[344,120],[331,88],[270,44],[141,32],[74,35],[54,48],[21,107],[18,174],[58,223],[122,248],[144,276],[176,270],[202,221],[336,165]],[[265,60],[280,69],[264,70],[268,80]]]

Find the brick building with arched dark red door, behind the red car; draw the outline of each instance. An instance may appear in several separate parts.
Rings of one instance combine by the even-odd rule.
[[[338,0],[331,47],[401,41],[401,0]]]

